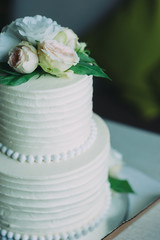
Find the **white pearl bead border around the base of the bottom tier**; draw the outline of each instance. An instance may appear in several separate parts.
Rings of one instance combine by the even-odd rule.
[[[109,187],[110,184],[107,183],[107,189],[109,189]],[[70,232],[58,233],[55,235],[50,234],[46,236],[29,236],[27,234],[13,233],[11,231],[0,228],[0,237],[2,238],[2,240],[76,240],[80,237],[86,236],[89,232],[93,232],[94,229],[98,227],[100,223],[107,218],[111,203],[111,193],[108,194],[107,197],[108,199],[106,201],[106,207],[103,214],[101,214],[101,216],[99,216],[97,219],[94,219],[89,224],[82,226],[80,229],[76,229]]]

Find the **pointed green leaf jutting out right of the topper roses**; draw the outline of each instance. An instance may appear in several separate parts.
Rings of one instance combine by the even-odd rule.
[[[81,75],[87,74],[96,77],[108,78],[109,80],[111,80],[109,76],[105,72],[103,72],[103,70],[99,66],[91,65],[82,61],[80,61],[77,65],[72,66],[70,70],[72,70],[74,73]]]

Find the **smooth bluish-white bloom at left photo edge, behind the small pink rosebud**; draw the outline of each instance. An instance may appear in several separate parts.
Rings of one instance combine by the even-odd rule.
[[[9,51],[19,44],[20,40],[10,33],[0,34],[0,62],[7,61]]]

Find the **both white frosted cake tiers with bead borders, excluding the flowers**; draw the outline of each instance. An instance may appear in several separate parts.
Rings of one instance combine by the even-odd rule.
[[[0,96],[1,233],[85,234],[110,205],[110,138],[92,114],[92,77],[46,75],[1,85]]]

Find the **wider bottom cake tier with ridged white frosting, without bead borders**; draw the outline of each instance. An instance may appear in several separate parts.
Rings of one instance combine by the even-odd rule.
[[[57,234],[88,225],[103,214],[110,198],[110,138],[105,123],[94,118],[94,144],[67,162],[30,165],[0,154],[0,229]]]

